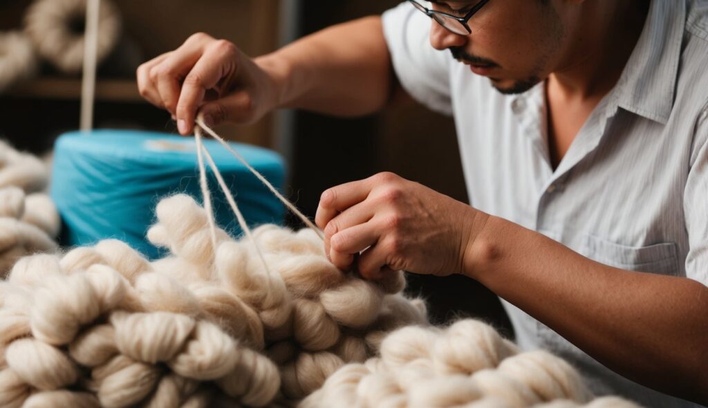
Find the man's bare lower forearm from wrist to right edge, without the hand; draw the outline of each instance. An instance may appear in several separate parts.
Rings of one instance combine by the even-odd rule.
[[[708,403],[708,288],[687,278],[623,271],[489,217],[467,275],[595,359],[656,390]]]

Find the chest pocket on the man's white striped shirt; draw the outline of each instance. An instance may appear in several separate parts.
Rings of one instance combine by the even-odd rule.
[[[626,246],[586,235],[578,252],[593,261],[615,268],[675,276],[680,270],[677,251],[674,242]]]

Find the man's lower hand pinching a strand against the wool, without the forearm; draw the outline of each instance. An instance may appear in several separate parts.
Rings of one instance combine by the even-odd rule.
[[[330,188],[315,221],[338,268],[356,261],[365,278],[382,269],[438,276],[462,273],[476,230],[488,217],[430,188],[391,173]]]

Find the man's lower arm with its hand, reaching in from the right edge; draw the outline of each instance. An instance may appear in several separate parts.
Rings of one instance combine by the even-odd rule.
[[[704,154],[708,163],[708,147]],[[700,211],[705,197],[696,191]],[[708,403],[708,288],[695,280],[605,266],[394,174],[330,188],[315,220],[339,268],[355,263],[370,279],[387,266],[462,273],[617,373]]]

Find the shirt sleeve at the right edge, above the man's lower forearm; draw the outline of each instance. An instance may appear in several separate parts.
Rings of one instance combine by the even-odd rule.
[[[684,193],[686,277],[708,285],[708,108],[701,115]]]

